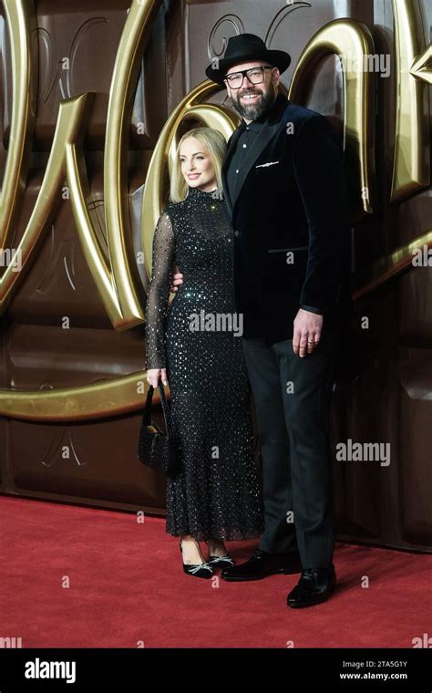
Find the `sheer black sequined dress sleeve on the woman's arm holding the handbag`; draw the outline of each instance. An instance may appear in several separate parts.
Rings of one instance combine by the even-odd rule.
[[[151,279],[146,305],[146,369],[166,368],[165,329],[170,298],[175,237],[170,216],[162,212],[153,236]]]

